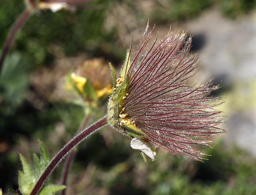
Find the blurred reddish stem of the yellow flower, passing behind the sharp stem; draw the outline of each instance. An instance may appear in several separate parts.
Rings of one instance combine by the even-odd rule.
[[[80,133],[86,127],[86,125],[90,119],[90,116],[91,116],[90,113],[86,114],[86,116],[82,120],[81,125],[78,128],[77,134]],[[71,150],[71,152],[68,154],[68,157],[65,160],[64,168],[63,168],[62,185],[67,186],[68,173],[69,173],[70,167],[72,166],[72,162],[75,157],[75,154],[76,154],[76,150],[74,148],[73,150]],[[62,190],[61,194],[66,195],[66,188]]]

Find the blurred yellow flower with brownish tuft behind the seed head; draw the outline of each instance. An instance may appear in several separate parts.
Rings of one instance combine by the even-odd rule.
[[[98,106],[112,93],[112,76],[103,59],[86,60],[65,80],[65,89],[76,96],[75,102],[80,105]]]

